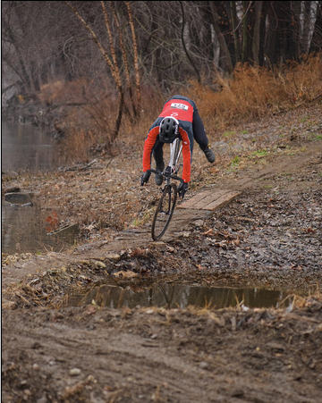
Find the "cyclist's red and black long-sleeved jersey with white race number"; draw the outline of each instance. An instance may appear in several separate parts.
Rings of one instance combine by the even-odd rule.
[[[160,122],[165,116],[173,116],[179,121],[179,133],[182,138],[182,180],[184,182],[191,180],[191,156],[193,149],[192,120],[195,108],[195,103],[187,97],[174,96],[165,102],[162,112],[148,130],[148,137],[145,140],[143,150],[143,172],[148,171],[151,167],[151,153],[158,139]]]

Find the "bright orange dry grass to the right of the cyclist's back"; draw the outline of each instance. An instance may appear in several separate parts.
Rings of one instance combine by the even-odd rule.
[[[287,63],[275,71],[239,64],[232,78],[214,78],[221,91],[191,81],[187,96],[195,100],[208,125],[225,130],[232,123],[250,121],[290,109],[322,95],[322,54],[302,63]]]

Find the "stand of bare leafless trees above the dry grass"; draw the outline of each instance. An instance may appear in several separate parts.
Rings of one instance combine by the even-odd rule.
[[[275,65],[321,49],[321,1],[67,4],[79,16],[71,18],[65,2],[2,2],[3,90],[33,94],[85,80],[94,105],[108,88],[118,98],[112,138],[123,113],[131,122],[140,117],[141,87],[164,97],[236,63],[263,65],[265,55]]]

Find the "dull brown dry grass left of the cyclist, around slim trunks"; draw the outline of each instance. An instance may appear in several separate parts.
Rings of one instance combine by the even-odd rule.
[[[134,119],[131,103],[126,98],[121,128],[114,141],[117,96],[114,93],[106,96],[102,88],[97,95],[97,88],[90,88],[84,82],[80,84],[86,88],[84,89],[86,97],[81,97],[80,102],[83,105],[70,108],[68,115],[64,118],[66,135],[61,140],[61,148],[62,154],[66,155],[65,162],[88,162],[90,155],[97,155],[97,152],[101,155],[117,155],[123,146],[139,147],[140,145],[141,147],[148,128],[162,109],[163,97],[156,90],[143,86],[140,119]],[[71,88],[66,88],[66,92],[69,89]],[[79,94],[79,91],[76,92]],[[108,93],[107,88],[106,93]],[[53,98],[54,96],[50,94],[50,99]]]

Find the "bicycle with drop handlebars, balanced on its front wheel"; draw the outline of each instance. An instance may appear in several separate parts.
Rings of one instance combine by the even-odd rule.
[[[161,189],[162,194],[157,204],[156,213],[154,214],[151,228],[151,235],[153,240],[160,239],[167,230],[169,223],[174,215],[174,207],[178,197],[177,186],[172,180],[181,181],[182,178],[177,176],[181,164],[179,158],[182,153],[182,140],[175,139],[170,143],[170,160],[169,164],[165,167],[163,172],[155,169],[149,169],[148,172],[163,175],[165,187]]]

